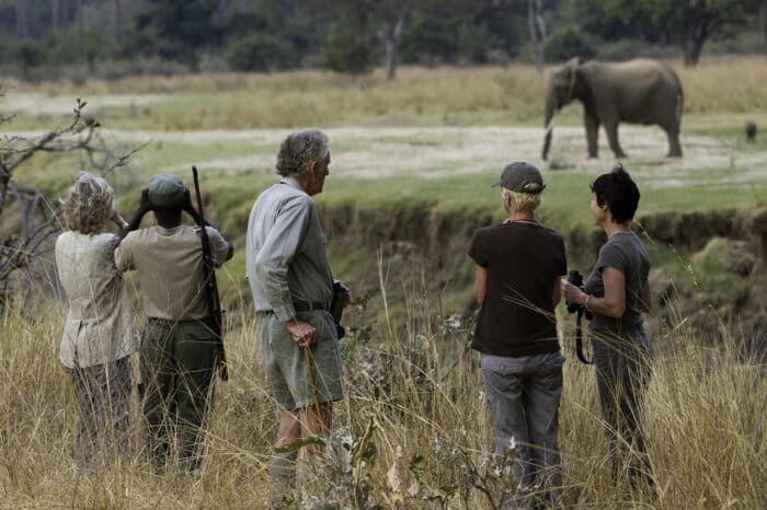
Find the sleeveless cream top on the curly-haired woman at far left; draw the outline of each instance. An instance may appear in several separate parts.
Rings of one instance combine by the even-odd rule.
[[[119,237],[68,231],[56,240],[56,266],[69,301],[59,358],[67,368],[103,364],[135,352],[130,302],[114,262]]]

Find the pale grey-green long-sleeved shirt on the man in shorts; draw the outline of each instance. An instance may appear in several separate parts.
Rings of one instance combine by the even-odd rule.
[[[311,197],[285,177],[255,200],[248,221],[245,270],[257,312],[285,322],[294,302],[330,306],[333,277],[328,240]]]

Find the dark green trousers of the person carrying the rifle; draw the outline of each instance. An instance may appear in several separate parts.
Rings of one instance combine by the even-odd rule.
[[[213,401],[216,336],[207,321],[149,318],[141,338],[144,418],[152,460],[163,466],[173,440],[179,467],[194,470]]]

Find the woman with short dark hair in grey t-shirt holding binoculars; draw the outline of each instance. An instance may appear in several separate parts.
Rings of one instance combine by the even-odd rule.
[[[585,291],[562,280],[562,294],[592,313],[599,403],[607,425],[616,482],[628,475],[632,484],[652,484],[639,413],[650,382],[652,348],[642,313],[650,311],[650,258],[631,220],[639,206],[639,188],[622,166],[591,185],[591,210],[607,234]],[[630,445],[627,451],[626,445]]]

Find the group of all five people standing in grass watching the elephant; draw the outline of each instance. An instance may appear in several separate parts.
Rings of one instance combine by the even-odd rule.
[[[255,201],[245,237],[247,278],[259,317],[259,336],[278,433],[270,473],[295,475],[301,438],[332,428],[332,404],[344,396],[337,316],[348,290],[333,280],[312,196],[323,189],[331,162],[328,137],[318,130],[289,135],[277,154],[279,183]],[[535,211],[546,187],[528,163],[512,163],[496,185],[508,213],[476,232],[469,256],[477,264],[480,305],[472,347],[481,352],[482,378],[494,424],[496,453],[513,452],[517,486],[504,506],[534,498],[556,505],[561,487],[558,409],[562,366],[554,309],[562,297],[593,314],[598,394],[611,433],[616,477],[652,480],[638,410],[649,380],[650,345],[642,326],[649,310],[648,254],[630,222],[639,192],[622,169],[591,186],[592,213],[608,241],[585,288],[566,273],[563,237],[545,228]],[[101,177],[81,173],[62,200],[66,231],[56,264],[69,302],[60,360],[80,408],[76,455],[88,460],[105,445],[124,448],[131,394],[129,356],[138,351],[146,452],[160,467],[176,452],[176,467],[195,470],[202,459],[202,427],[210,410],[219,363],[202,270],[201,229],[220,266],[232,245],[192,205],[181,178],[154,176],[130,222],[116,211],[114,192]],[[151,211],[157,224],[139,229]],[[195,225],[182,222],[187,213]],[[104,233],[112,219],[119,233]],[[146,324],[140,346],[124,273],[135,270]],[[300,443],[300,442],[299,442]],[[300,443],[302,444],[302,443]],[[622,445],[633,445],[625,462]],[[172,448],[175,445],[175,449]],[[300,449],[307,462],[311,447]]]

